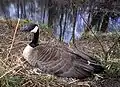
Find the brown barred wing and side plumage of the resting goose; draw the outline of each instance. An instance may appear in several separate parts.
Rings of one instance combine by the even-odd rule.
[[[83,58],[64,46],[40,45],[38,55],[37,67],[49,74],[85,78],[94,71],[94,67],[88,64],[89,57]]]

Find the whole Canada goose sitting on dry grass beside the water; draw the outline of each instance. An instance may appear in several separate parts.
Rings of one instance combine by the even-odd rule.
[[[23,31],[34,33],[32,41],[25,47],[23,57],[34,67],[45,73],[59,77],[83,79],[104,68],[92,57],[75,53],[68,46],[58,44],[39,44],[39,27],[30,24]]]

